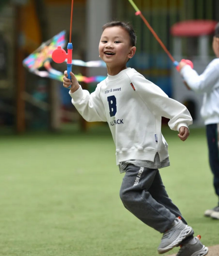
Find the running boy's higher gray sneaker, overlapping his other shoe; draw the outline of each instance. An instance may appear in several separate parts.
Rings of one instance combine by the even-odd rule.
[[[191,233],[193,233],[192,227],[184,224],[179,218],[176,218],[173,226],[163,233],[157,249],[158,253],[162,254],[172,250],[173,247],[179,245]]]

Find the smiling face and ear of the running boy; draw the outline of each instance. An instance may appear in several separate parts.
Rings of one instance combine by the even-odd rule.
[[[100,58],[111,67],[126,64],[136,50],[136,47],[131,46],[130,41],[130,36],[124,28],[119,26],[106,28],[100,38]]]

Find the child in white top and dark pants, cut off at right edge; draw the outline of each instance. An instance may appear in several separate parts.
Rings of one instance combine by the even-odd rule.
[[[212,48],[217,58],[208,64],[200,76],[183,62],[179,63],[179,68],[187,86],[194,92],[204,94],[201,115],[206,125],[208,155],[214,175],[214,188],[219,197],[219,23],[215,27]],[[219,199],[217,206],[206,210],[204,215],[219,220]]]

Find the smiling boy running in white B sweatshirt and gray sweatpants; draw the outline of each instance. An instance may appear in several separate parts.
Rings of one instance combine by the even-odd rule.
[[[193,237],[193,229],[168,197],[158,171],[170,165],[168,145],[161,133],[161,116],[170,118],[170,128],[179,131],[182,141],[189,135],[192,117],[185,106],[168,98],[135,69],[126,67],[135,54],[135,44],[136,35],[130,25],[120,21],[107,23],[99,43],[107,78],[92,94],[81,89],[73,73],[71,81],[63,78],[63,86],[71,85],[72,103],[84,119],[108,122],[116,145],[117,165],[120,172],[125,172],[120,198],[138,219],[164,233],[158,252],[162,254],[182,244],[178,256],[194,256],[197,252],[204,256],[207,247]],[[67,76],[66,71],[64,74]]]

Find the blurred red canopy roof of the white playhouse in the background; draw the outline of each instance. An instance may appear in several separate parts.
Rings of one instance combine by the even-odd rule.
[[[174,36],[200,36],[212,34],[217,21],[214,20],[185,20],[171,27]]]

